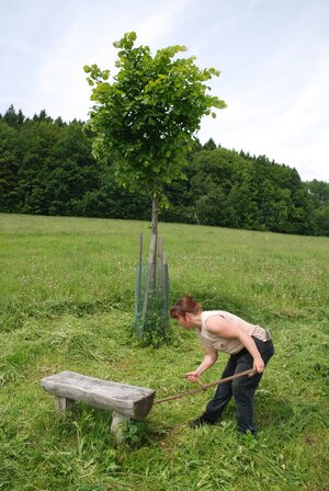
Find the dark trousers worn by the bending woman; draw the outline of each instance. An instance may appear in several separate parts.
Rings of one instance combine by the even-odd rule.
[[[260,341],[253,338],[261,357],[266,365],[271,356],[274,354],[274,346],[271,340]],[[253,366],[253,358],[247,349],[241,350],[236,355],[230,355],[228,363],[223,372],[222,378],[229,377],[240,372],[248,370]],[[241,376],[235,380],[217,386],[213,399],[207,403],[206,416],[211,421],[217,421],[234,396],[237,406],[237,424],[238,431],[252,434],[257,433],[253,423],[253,396],[254,391],[262,378],[262,374],[256,374],[252,377]]]

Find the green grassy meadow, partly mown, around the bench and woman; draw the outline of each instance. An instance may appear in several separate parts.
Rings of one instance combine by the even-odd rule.
[[[134,321],[137,221],[0,215],[0,490],[329,490],[329,239],[160,224],[171,300],[269,328],[276,354],[256,397],[259,435],[238,438],[235,404],[190,430],[207,393],[157,404],[115,448],[111,414],[79,406],[66,421],[39,379],[70,369],[154,388],[192,389],[202,350],[172,324],[141,347]],[[147,251],[145,251],[147,255]],[[226,362],[203,376],[220,377]]]

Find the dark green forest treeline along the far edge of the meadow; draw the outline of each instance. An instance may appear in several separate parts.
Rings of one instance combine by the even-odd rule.
[[[118,187],[91,145],[82,122],[10,106],[0,115],[0,212],[149,220],[149,198]],[[185,174],[168,189],[162,221],[329,236],[329,183],[302,182],[265,156],[196,141]]]

